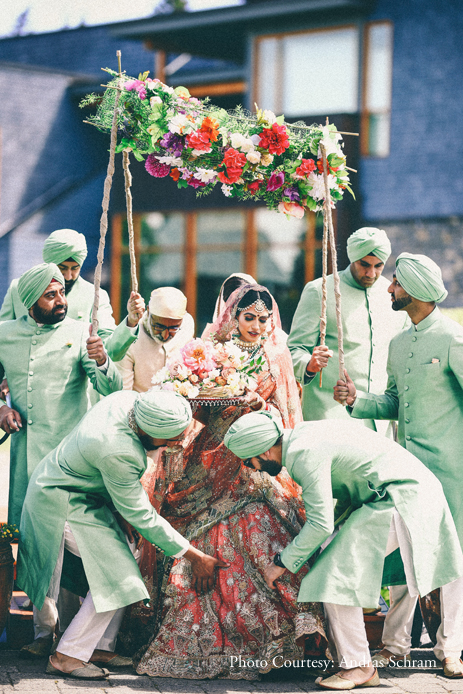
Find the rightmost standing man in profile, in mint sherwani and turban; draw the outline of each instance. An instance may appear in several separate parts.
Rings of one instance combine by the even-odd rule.
[[[388,292],[392,312],[407,313],[412,325],[391,341],[387,388],[382,394],[357,390],[348,372],[347,384],[338,381],[335,397],[346,400],[352,417],[398,420],[399,443],[442,483],[463,547],[463,328],[437,308],[447,290],[440,268],[425,255],[399,255]],[[408,654],[416,603],[404,586],[392,586],[391,599],[385,662]],[[463,581],[450,592],[442,589],[441,603],[447,618],[435,652],[448,676],[462,677]]]

